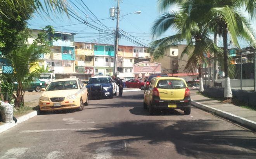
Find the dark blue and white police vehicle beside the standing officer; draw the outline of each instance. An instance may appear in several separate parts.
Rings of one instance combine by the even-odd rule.
[[[109,75],[94,76],[86,85],[89,99],[113,98],[116,95],[116,82]]]

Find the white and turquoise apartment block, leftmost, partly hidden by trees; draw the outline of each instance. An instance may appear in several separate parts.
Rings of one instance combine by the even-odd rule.
[[[31,31],[29,44],[33,43],[42,30],[31,29]],[[54,37],[59,39],[51,42],[51,52],[42,54],[38,66],[48,68],[48,71],[55,74],[75,73],[74,35],[74,33],[55,31]]]

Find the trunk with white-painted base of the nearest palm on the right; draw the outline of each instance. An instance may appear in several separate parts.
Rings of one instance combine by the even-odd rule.
[[[224,55],[224,72],[225,72],[225,87],[224,87],[224,98],[231,99],[232,98],[232,91],[230,86],[230,79],[229,79],[229,60],[228,60],[228,31],[227,25],[223,30],[223,55]]]

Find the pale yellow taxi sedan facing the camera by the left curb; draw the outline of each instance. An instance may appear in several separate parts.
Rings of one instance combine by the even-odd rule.
[[[80,79],[58,79],[52,81],[40,97],[40,111],[78,109],[88,105],[88,92]]]

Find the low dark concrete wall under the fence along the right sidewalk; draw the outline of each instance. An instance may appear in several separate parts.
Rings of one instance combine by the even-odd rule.
[[[224,88],[207,87],[204,85],[204,94],[210,97],[223,98]],[[233,98],[237,99],[241,103],[246,103],[249,106],[256,106],[255,92],[232,89],[232,94],[233,94]]]

